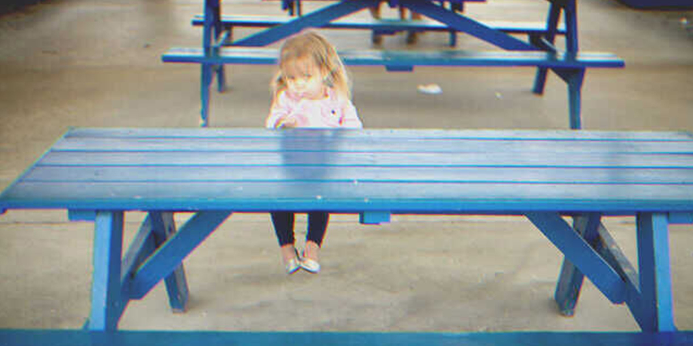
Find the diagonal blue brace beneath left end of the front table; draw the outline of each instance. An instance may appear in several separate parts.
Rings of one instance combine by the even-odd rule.
[[[198,212],[177,232],[162,244],[157,252],[144,262],[132,277],[132,297],[142,298],[159,281],[167,277],[180,266],[204,239],[206,239],[223,222],[231,212],[207,211]]]

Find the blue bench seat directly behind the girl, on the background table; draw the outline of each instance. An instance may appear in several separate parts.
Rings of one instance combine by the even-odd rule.
[[[211,54],[202,48],[172,48],[161,56],[164,62],[195,64],[277,64],[274,48],[221,47]],[[610,53],[566,53],[542,51],[340,51],[344,63],[352,66],[385,66],[387,71],[412,71],[414,66],[529,66],[550,69],[568,84],[568,113],[571,129],[581,128],[581,89],[588,68],[619,68],[623,60]],[[203,76],[203,86],[211,84]],[[543,80],[536,78],[533,92],[543,93]],[[209,89],[209,88],[204,88]],[[209,95],[203,95],[209,98]]]

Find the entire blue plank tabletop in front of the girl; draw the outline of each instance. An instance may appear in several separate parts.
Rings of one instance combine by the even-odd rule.
[[[76,131],[56,143],[3,194],[0,207],[263,211],[287,208],[281,200],[291,199],[292,207],[304,210],[356,213],[503,208],[521,213],[525,208],[554,210],[553,203],[630,215],[645,206],[666,212],[691,208],[693,138],[687,134],[264,129],[201,129],[196,135],[173,130],[171,136],[161,129],[89,133]],[[85,184],[90,188],[79,188]]]

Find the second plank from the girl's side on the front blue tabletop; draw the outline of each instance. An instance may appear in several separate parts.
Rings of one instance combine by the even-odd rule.
[[[370,138],[356,140],[356,138],[342,138],[334,131],[322,133],[323,137],[307,135],[287,136],[274,138],[274,140],[258,141],[256,138],[231,138],[225,139],[191,139],[186,140],[184,147],[180,146],[177,138],[150,138],[132,140],[79,138],[77,140],[64,140],[53,146],[54,152],[274,152],[279,154],[303,154],[315,155],[315,153],[340,154],[341,152],[362,153],[405,153],[418,154],[462,154],[462,153],[489,153],[495,152],[561,152],[563,154],[592,153],[592,154],[638,154],[648,156],[651,154],[688,155],[693,149],[693,141],[602,141],[592,140],[585,142],[563,140],[473,140],[466,138],[444,138],[441,140],[418,140],[416,138],[383,140]],[[323,145],[316,149],[315,145]],[[322,162],[328,160],[322,158]]]

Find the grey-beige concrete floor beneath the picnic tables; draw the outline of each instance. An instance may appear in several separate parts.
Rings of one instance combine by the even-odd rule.
[[[225,12],[281,14],[276,1],[226,0]],[[306,10],[321,6],[307,3]],[[480,19],[537,20],[547,1],[468,5]],[[199,67],[163,64],[170,46],[198,46],[202,0],[54,0],[0,17],[0,188],[67,127],[196,127]],[[390,12],[394,15],[394,12]],[[366,13],[359,15],[366,16]],[[693,12],[638,11],[579,1],[581,48],[611,51],[626,69],[586,75],[586,129],[693,131]],[[249,30],[239,30],[245,35]],[[369,33],[327,31],[339,48],[367,48]],[[415,48],[441,48],[428,33]],[[486,48],[459,35],[462,48]],[[406,48],[403,35],[385,48]],[[215,93],[213,127],[260,127],[271,66],[229,66]],[[565,85],[550,76],[530,92],[532,69],[351,69],[366,127],[565,129]],[[437,83],[441,95],[417,93]],[[568,159],[568,158],[566,158]],[[188,215],[179,215],[184,221]],[[127,215],[132,237],[143,215]],[[301,233],[299,224],[299,233]],[[633,219],[606,225],[635,261]],[[693,329],[693,232],[671,227],[676,324]],[[79,328],[89,313],[89,223],[64,211],[0,217],[0,328]],[[300,235],[299,235],[300,237]],[[394,217],[362,226],[335,217],[319,275],[283,274],[267,215],[234,215],[185,262],[189,310],[173,314],[161,286],[132,302],[123,329],[635,330],[623,306],[586,282],[573,318],[552,302],[561,256],[514,217]]]

